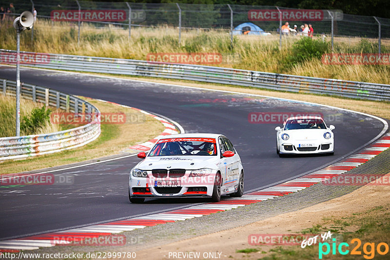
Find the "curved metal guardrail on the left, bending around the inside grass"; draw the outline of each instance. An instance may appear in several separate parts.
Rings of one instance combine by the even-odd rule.
[[[16,96],[16,81],[0,79],[2,94]],[[41,154],[59,152],[86,145],[100,134],[100,111],[92,104],[76,96],[44,87],[21,83],[23,98],[67,112],[95,114],[94,120],[78,128],[48,134],[12,136],[0,138],[0,161],[20,159]]]

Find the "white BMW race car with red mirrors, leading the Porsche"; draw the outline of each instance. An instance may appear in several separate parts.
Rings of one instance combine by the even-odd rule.
[[[221,134],[187,133],[159,139],[130,172],[129,199],[241,197],[244,169],[230,140]]]

